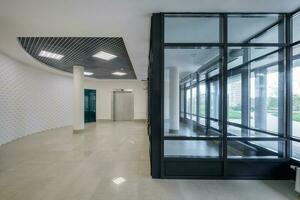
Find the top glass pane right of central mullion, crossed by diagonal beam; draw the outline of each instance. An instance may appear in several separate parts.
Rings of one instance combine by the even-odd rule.
[[[228,42],[278,43],[279,28],[276,23],[280,22],[280,19],[279,15],[267,14],[229,15]]]

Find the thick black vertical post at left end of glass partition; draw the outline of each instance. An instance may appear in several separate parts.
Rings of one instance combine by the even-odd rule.
[[[151,176],[161,178],[161,155],[164,113],[163,113],[163,68],[161,65],[161,14],[153,14],[151,19],[151,41],[149,54],[149,140],[150,140],[150,162]]]

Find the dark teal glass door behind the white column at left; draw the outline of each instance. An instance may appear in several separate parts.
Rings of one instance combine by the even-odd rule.
[[[84,122],[96,122],[96,90],[84,90]]]

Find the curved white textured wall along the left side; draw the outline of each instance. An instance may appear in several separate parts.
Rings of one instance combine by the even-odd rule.
[[[72,78],[0,54],[0,145],[72,124]]]

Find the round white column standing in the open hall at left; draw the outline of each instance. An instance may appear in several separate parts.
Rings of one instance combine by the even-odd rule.
[[[84,90],[82,66],[73,67],[73,130],[80,132],[84,129]]]

